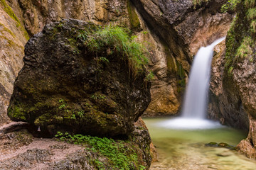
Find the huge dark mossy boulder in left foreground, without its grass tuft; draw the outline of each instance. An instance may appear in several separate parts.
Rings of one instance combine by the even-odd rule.
[[[144,74],[131,76],[127,61],[107,49],[95,56],[77,40],[93,23],[51,23],[25,47],[24,67],[14,83],[11,120],[54,134],[128,135],[150,102]],[[74,37],[75,35],[75,37]],[[100,60],[106,57],[109,62]]]

